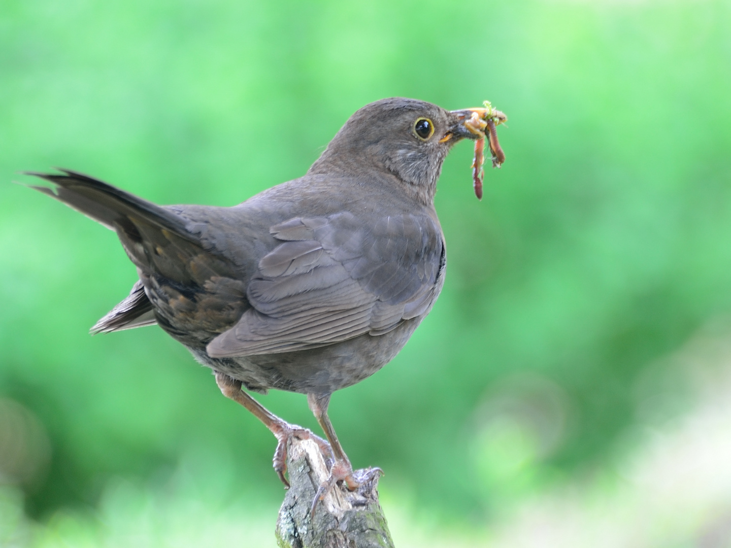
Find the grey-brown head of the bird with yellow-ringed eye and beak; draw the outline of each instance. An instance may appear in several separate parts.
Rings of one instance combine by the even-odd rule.
[[[484,138],[485,119],[493,113],[504,121],[489,107],[450,111],[417,99],[381,99],[346,121],[309,173],[387,175],[421,202],[432,203],[452,145]]]

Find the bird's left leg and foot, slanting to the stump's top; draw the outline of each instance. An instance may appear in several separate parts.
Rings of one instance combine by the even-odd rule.
[[[290,425],[276,416],[267,408],[262,406],[257,400],[248,395],[241,389],[241,381],[237,381],[235,378],[231,378],[225,373],[219,373],[216,371],[216,384],[219,385],[221,392],[224,396],[240,403],[246,407],[257,417],[261,422],[264,423],[265,427],[271,430],[277,440],[276,451],[274,452],[273,466],[279,479],[284,484],[286,489],[289,489],[289,482],[284,477],[284,473],[287,472],[287,442],[292,436],[299,439],[312,439],[319,446],[320,452],[325,458],[330,457],[330,446],[327,441],[320,438],[319,435],[314,435],[310,430],[303,428],[298,425]]]

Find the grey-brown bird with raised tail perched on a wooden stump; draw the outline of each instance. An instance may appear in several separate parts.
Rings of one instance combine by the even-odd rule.
[[[155,205],[72,170],[29,175],[47,181],[32,188],[114,230],[137,267],[129,296],[91,332],[162,327],[275,435],[285,487],[288,441],[314,439],[330,465],[314,512],[333,485],[359,484],[330,395],[390,362],[442,291],[436,183],[456,142],[484,140],[485,121],[504,121],[486,106],[367,104],[303,177],[232,207]],[[250,393],[269,389],[306,394],[326,439]]]

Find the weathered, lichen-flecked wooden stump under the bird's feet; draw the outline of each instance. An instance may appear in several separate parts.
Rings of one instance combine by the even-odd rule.
[[[330,473],[312,440],[292,439],[287,470],[292,487],[284,497],[276,522],[281,548],[393,548],[386,518],[378,502],[379,473],[355,471],[356,479],[370,479],[354,492],[336,485],[310,509],[315,492]]]

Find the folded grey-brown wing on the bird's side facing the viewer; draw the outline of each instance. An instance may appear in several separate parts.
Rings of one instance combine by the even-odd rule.
[[[270,229],[279,246],[251,279],[251,306],[208,344],[211,357],[315,348],[382,335],[428,311],[444,267],[441,230],[428,216],[352,213],[292,218]]]

